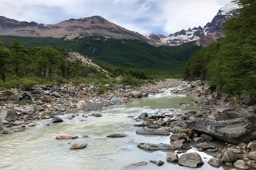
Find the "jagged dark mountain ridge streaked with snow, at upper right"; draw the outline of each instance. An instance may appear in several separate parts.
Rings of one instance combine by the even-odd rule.
[[[218,30],[220,27],[222,27],[227,19],[231,18],[234,14],[236,14],[236,9],[238,8],[238,5],[229,2],[224,7],[220,8],[219,12],[212,19],[212,22],[208,22],[204,26],[204,28],[199,26],[194,27],[193,29],[188,28],[188,30],[182,29],[181,31],[178,31],[174,34],[170,34],[168,37],[154,33],[146,35],[146,37],[151,41],[154,41],[155,43],[171,46],[196,41],[204,37],[205,35],[211,34],[214,31]]]

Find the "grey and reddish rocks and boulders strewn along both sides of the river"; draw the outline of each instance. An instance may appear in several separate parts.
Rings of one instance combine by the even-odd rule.
[[[228,169],[227,166],[234,166],[237,169],[256,167],[254,166],[256,165],[256,142],[254,142],[255,100],[253,97],[244,97],[236,104],[231,97],[221,94],[219,89],[213,89],[203,81],[183,82],[173,79],[140,88],[115,84],[114,88],[112,87],[103,95],[89,93],[99,87],[99,84],[81,84],[1,91],[1,132],[22,135],[23,132],[18,133],[18,131],[26,131],[27,128],[41,126],[42,123],[43,126],[54,126],[55,123],[65,123],[76,119],[77,116],[84,118],[83,121],[87,121],[86,119],[90,116],[101,119],[97,117],[104,117],[104,113],[98,112],[99,110],[113,107],[114,104],[133,102],[134,98],[148,95],[197,96],[201,99],[177,104],[183,112],[176,113],[175,109],[169,109],[155,114],[144,109],[145,112],[140,115],[130,115],[129,119],[134,121],[138,135],[148,134],[163,139],[166,135],[171,141],[164,144],[161,141],[160,143],[150,143],[152,140],[140,141],[136,143],[137,147],[148,151],[166,150],[168,162],[177,161],[178,165],[185,167],[200,167],[204,163],[214,167],[223,166],[225,169]],[[241,109],[242,106],[243,109]],[[87,112],[92,110],[96,112]],[[39,121],[41,119],[42,121]],[[76,140],[76,136],[66,136],[68,139]],[[118,133],[109,134],[108,137],[127,138],[127,135]],[[223,141],[225,145],[214,141],[217,143]],[[87,144],[74,143],[70,149],[85,147],[87,149],[90,147]],[[191,152],[191,148],[196,153]],[[201,157],[202,154],[198,155],[198,152],[202,151],[214,153],[214,155],[211,154],[213,158],[205,162],[204,157]],[[163,165],[163,162],[165,160],[150,161],[158,166]],[[137,163],[128,167],[148,166],[148,160]]]

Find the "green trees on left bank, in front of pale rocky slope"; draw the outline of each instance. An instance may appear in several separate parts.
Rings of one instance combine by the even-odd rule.
[[[95,68],[86,67],[80,61],[71,62],[68,57],[68,52],[61,47],[27,48],[16,39],[6,47],[0,42],[0,77],[2,81],[23,77],[60,81],[99,74]],[[104,76],[99,75],[100,78]]]

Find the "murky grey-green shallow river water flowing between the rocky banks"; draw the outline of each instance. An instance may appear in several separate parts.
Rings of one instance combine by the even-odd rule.
[[[150,95],[147,98],[133,99],[124,105],[114,105],[103,111],[102,117],[83,118],[82,114],[72,120],[61,115],[64,122],[45,126],[46,120],[36,121],[36,126],[23,132],[0,136],[0,169],[2,170],[121,170],[129,164],[148,162],[146,166],[132,168],[134,170],[183,170],[190,169],[178,166],[177,163],[166,161],[167,150],[146,151],[139,149],[137,143],[170,143],[169,136],[138,135],[133,125],[136,122],[129,115],[140,113],[184,113],[197,108],[181,108],[179,103],[192,103],[198,97],[185,97],[166,93]],[[174,109],[174,112],[169,112]],[[87,114],[89,114],[88,112]],[[85,114],[85,113],[83,113]],[[84,120],[84,121],[81,121]],[[49,120],[47,120],[49,121]],[[107,138],[109,134],[124,133],[123,138]],[[77,135],[74,140],[57,140],[59,134]],[[88,137],[82,137],[88,135]],[[69,144],[68,144],[69,143]],[[88,144],[85,149],[70,150],[73,143]],[[223,143],[210,143],[223,147]],[[195,142],[190,145],[195,147]],[[216,169],[207,164],[216,153],[199,152],[196,148],[183,150],[197,152],[201,155],[204,165],[198,169]],[[163,166],[157,166],[149,160],[162,160]],[[219,169],[230,169],[220,167]]]

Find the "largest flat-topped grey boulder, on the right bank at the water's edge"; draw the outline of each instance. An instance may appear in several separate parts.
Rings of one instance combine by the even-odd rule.
[[[249,120],[244,118],[223,121],[196,119],[188,123],[188,128],[211,135],[228,143],[239,144],[251,141],[254,126]]]

